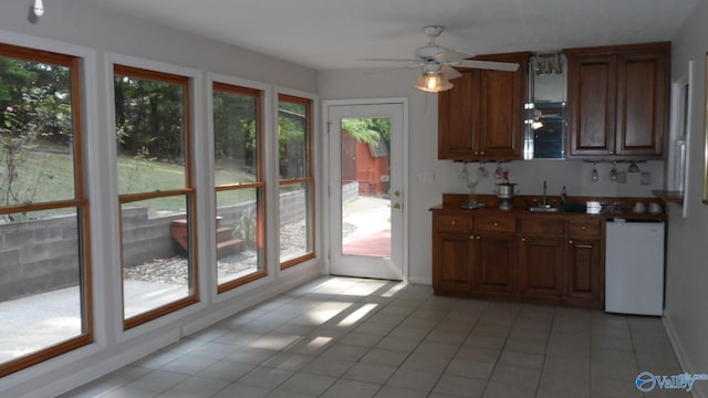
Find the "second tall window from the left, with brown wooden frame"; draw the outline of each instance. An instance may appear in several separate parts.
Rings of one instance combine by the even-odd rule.
[[[189,78],[114,65],[124,327],[197,301]]]

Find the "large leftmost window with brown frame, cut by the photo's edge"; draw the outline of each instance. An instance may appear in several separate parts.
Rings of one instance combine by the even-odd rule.
[[[92,341],[79,59],[0,44],[0,377]]]

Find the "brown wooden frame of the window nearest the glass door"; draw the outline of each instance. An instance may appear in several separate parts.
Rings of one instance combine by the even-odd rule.
[[[308,260],[312,260],[314,258],[316,258],[316,248],[317,248],[317,214],[316,214],[316,186],[315,186],[315,177],[314,177],[314,168],[313,168],[313,155],[314,155],[314,132],[313,132],[313,123],[314,123],[314,108],[315,108],[315,100],[304,96],[304,94],[300,95],[300,94],[289,94],[289,93],[283,93],[280,92],[277,95],[275,98],[275,133],[278,132],[278,125],[279,125],[279,121],[280,121],[280,114],[279,114],[279,109],[280,109],[280,102],[290,102],[290,103],[294,103],[294,104],[301,104],[304,105],[306,108],[306,135],[308,135],[308,145],[305,146],[305,154],[308,157],[308,165],[306,165],[306,170],[308,170],[308,176],[306,177],[298,177],[298,178],[287,178],[287,179],[281,179],[278,178],[278,186],[279,186],[279,191],[280,191],[280,187],[283,186],[289,186],[289,185],[295,185],[295,184],[309,184],[311,187],[311,192],[310,192],[310,197],[312,202],[310,203],[310,211],[312,211],[312,248],[309,252],[299,255],[296,258],[287,260],[287,261],[280,261],[280,252],[279,252],[279,263],[280,263],[280,270],[287,270],[289,268],[292,268],[294,265],[301,264]],[[275,139],[275,148],[279,147],[279,142],[278,139]],[[280,165],[280,157],[275,158],[275,164]],[[278,166],[275,166],[278,167]],[[280,195],[280,192],[279,192]],[[280,209],[279,209],[279,213],[280,213]],[[278,237],[279,237],[279,241],[280,241],[280,222],[278,226]]]

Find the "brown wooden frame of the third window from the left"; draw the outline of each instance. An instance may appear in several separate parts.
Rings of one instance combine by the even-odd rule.
[[[264,147],[264,140],[263,140],[263,126],[264,126],[264,96],[266,96],[266,92],[263,90],[258,90],[258,88],[252,88],[252,87],[246,87],[242,85],[237,85],[237,84],[230,84],[230,83],[225,83],[220,80],[212,80],[211,81],[211,88],[209,91],[209,95],[211,96],[211,107],[209,109],[209,117],[212,121],[212,128],[211,128],[211,134],[212,137],[216,140],[216,130],[215,130],[215,126],[214,126],[214,93],[216,92],[223,92],[223,93],[229,93],[229,94],[237,94],[237,95],[248,95],[248,96],[252,96],[256,98],[256,117],[258,119],[257,123],[257,132],[256,132],[256,139],[258,142],[258,150],[257,150],[257,158],[258,158],[258,163],[257,163],[257,181],[254,182],[236,182],[236,184],[226,184],[226,185],[216,185],[216,182],[214,184],[214,189],[215,189],[215,198],[214,198],[214,210],[215,212],[218,209],[217,206],[217,193],[218,192],[222,192],[222,191],[231,191],[231,190],[239,190],[239,189],[261,189],[262,192],[262,198],[261,198],[261,202],[257,203],[257,211],[259,212],[258,214],[258,220],[259,220],[259,224],[257,226],[257,234],[260,237],[260,239],[263,240],[263,260],[262,260],[262,264],[263,268],[261,270],[258,270],[256,272],[252,272],[248,275],[238,277],[236,280],[231,280],[231,281],[227,281],[223,283],[219,283],[219,277],[218,275],[215,279],[215,284],[217,287],[217,294],[221,294],[228,291],[232,291],[239,286],[242,286],[244,284],[248,284],[250,282],[253,282],[256,280],[259,280],[261,277],[266,277],[268,276],[268,191],[267,191],[267,184],[266,184],[266,172],[264,172],[264,168],[263,168],[263,147]],[[214,170],[212,170],[212,175],[214,175]],[[215,239],[215,250],[216,250],[216,239]],[[218,261],[218,260],[217,260]],[[216,271],[218,273],[218,264],[215,266]]]

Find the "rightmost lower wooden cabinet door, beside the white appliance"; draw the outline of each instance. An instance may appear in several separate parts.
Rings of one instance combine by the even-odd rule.
[[[602,300],[600,239],[569,239],[565,252],[568,297]]]

